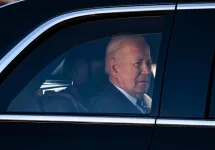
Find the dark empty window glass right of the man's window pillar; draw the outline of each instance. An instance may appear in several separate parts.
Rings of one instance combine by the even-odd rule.
[[[168,50],[161,116],[204,118],[214,55],[214,10],[178,10]]]

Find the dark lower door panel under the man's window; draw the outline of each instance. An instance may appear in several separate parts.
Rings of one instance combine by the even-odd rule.
[[[147,149],[153,125],[1,123],[4,149]]]

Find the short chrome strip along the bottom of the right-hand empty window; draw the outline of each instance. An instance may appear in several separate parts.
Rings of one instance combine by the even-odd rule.
[[[215,127],[213,120],[194,120],[194,119],[157,119],[158,126],[199,126],[199,127]]]

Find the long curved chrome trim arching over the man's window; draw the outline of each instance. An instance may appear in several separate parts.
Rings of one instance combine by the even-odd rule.
[[[46,23],[36,28],[33,32],[27,35],[21,42],[19,42],[13,49],[11,49],[0,60],[0,73],[7,67],[7,65],[19,55],[32,41],[39,37],[43,32],[49,28],[59,24],[60,22],[75,19],[83,16],[113,14],[113,13],[129,13],[129,12],[154,12],[154,11],[170,11],[175,10],[175,5],[153,5],[153,6],[124,6],[124,7],[111,7],[111,8],[96,8],[75,11],[67,13],[56,18],[53,18]]]

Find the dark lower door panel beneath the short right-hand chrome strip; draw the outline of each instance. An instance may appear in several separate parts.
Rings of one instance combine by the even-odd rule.
[[[151,143],[153,150],[212,150],[214,127],[157,125]]]

